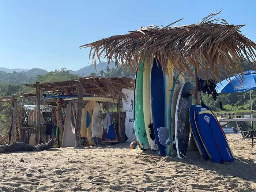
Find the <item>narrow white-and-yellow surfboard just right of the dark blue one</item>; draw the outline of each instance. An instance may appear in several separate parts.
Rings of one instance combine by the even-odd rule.
[[[169,131],[171,129],[171,125],[169,123],[169,105],[170,105],[170,95],[173,87],[173,70],[172,70],[172,63],[168,61],[167,69],[169,76],[165,74],[164,82],[165,82],[165,127],[168,129],[167,135],[169,136]],[[171,153],[171,146],[170,146],[170,139],[168,137],[166,142],[166,150],[165,155],[170,155]]]

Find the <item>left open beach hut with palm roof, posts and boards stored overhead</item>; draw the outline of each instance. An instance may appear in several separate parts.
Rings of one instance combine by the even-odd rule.
[[[84,77],[63,82],[35,83],[26,84],[28,87],[36,89],[36,104],[39,106],[41,98],[56,99],[62,98],[63,101],[76,100],[75,113],[76,118],[71,126],[75,132],[75,146],[81,146],[81,117],[83,109],[83,101],[103,101],[114,102],[117,104],[118,112],[118,142],[124,142],[124,126],[121,121],[121,99],[126,99],[122,89],[131,89],[134,86],[134,79],[130,78],[102,78],[102,77]],[[41,97],[40,91],[43,94]],[[72,102],[71,102],[72,103]],[[73,109],[73,108],[72,108]],[[71,116],[72,117],[72,116]],[[74,126],[73,126],[74,125]],[[60,128],[60,135],[63,135],[64,127],[61,122],[60,106],[57,102],[57,127]],[[39,116],[36,119],[36,136],[39,134]],[[36,140],[37,144],[39,141]]]

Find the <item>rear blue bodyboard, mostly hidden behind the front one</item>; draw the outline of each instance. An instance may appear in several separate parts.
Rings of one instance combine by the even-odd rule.
[[[200,138],[199,132],[197,131],[195,118],[194,118],[195,109],[197,109],[197,108],[202,108],[202,106],[201,105],[191,105],[190,106],[190,108],[189,108],[189,123],[190,123],[190,128],[192,130],[192,135],[195,139],[195,143],[198,148],[198,151],[199,151],[200,155],[203,156],[204,159],[207,160],[210,157],[208,156],[207,151],[205,150],[202,140]]]

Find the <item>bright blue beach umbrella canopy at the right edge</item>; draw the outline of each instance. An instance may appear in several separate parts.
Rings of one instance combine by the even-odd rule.
[[[255,71],[245,71],[244,78],[242,78],[241,74],[237,74],[230,79],[217,83],[216,86],[217,93],[238,93],[254,89],[256,89]]]

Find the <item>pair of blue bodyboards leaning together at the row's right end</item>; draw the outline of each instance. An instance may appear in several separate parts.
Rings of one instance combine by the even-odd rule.
[[[234,161],[234,155],[227,143],[224,131],[211,110],[202,103],[189,108],[192,134],[200,155],[211,158],[215,163]]]

